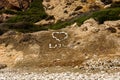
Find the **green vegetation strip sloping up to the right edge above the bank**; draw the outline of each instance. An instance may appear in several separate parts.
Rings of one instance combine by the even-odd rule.
[[[68,25],[73,24],[74,22],[77,22],[78,25],[83,24],[83,22],[89,18],[94,18],[99,22],[99,24],[102,24],[104,21],[107,20],[119,20],[120,19],[120,8],[109,8],[104,9],[96,12],[88,12],[84,15],[77,16],[75,19],[71,19],[65,22],[58,22],[52,26],[49,26],[50,29],[60,29],[64,28]]]

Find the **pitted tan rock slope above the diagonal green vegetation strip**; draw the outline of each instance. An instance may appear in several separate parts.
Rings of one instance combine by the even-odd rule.
[[[88,11],[110,7],[119,0],[43,0],[46,13],[58,20],[66,20]]]

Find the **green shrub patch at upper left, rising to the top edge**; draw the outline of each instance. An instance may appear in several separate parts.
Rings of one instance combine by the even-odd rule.
[[[42,0],[33,0],[30,5],[30,8],[26,11],[17,11],[17,12],[10,12],[17,14],[17,16],[10,18],[8,21],[9,23],[16,23],[16,22],[37,22],[47,17],[47,14],[44,11]]]

